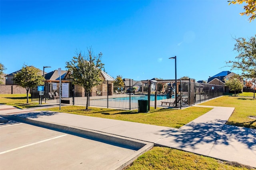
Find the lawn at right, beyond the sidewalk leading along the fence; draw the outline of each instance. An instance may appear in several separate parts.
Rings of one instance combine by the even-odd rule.
[[[252,97],[222,96],[199,105],[235,107],[226,124],[256,129],[256,119],[249,118],[256,117],[256,99]]]

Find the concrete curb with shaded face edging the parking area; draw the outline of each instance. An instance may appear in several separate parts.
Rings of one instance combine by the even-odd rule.
[[[43,127],[43,128],[51,129],[54,131],[60,131],[62,133],[68,133],[70,135],[76,135],[79,137],[84,137],[86,139],[107,143],[109,145],[114,145],[117,147],[123,147],[126,149],[135,150],[134,154],[130,155],[128,160],[125,163],[120,162],[119,164],[116,164],[114,165],[114,167],[111,168],[115,170],[122,170],[124,167],[128,166],[134,160],[136,160],[144,152],[154,147],[154,143],[121,137],[118,135],[103,133],[100,131],[93,131],[90,129],[84,129],[80,127],[66,126],[58,123],[53,124],[48,122],[36,121],[36,120],[28,119],[25,117],[18,117],[16,115],[0,115],[0,116],[3,117],[3,119],[19,121],[22,123]]]

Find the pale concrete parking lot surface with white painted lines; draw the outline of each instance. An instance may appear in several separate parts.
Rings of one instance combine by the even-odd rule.
[[[116,169],[136,152],[15,121],[1,123],[0,134],[1,170]]]

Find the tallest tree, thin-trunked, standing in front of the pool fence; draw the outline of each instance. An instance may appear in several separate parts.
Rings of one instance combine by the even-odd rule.
[[[66,62],[66,68],[71,72],[73,84],[78,84],[84,87],[86,94],[86,110],[88,110],[88,102],[90,92],[94,86],[97,86],[102,81],[100,78],[100,71],[104,64],[101,63],[102,53],[94,56],[93,51],[87,48],[87,55],[83,56],[81,52],[74,56],[72,61]]]

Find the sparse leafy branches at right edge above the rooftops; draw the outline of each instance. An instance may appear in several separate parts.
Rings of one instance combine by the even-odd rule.
[[[236,61],[228,61],[232,69],[242,70],[242,76],[256,78],[256,35],[248,41],[245,38],[235,39],[234,51],[238,52]]]

